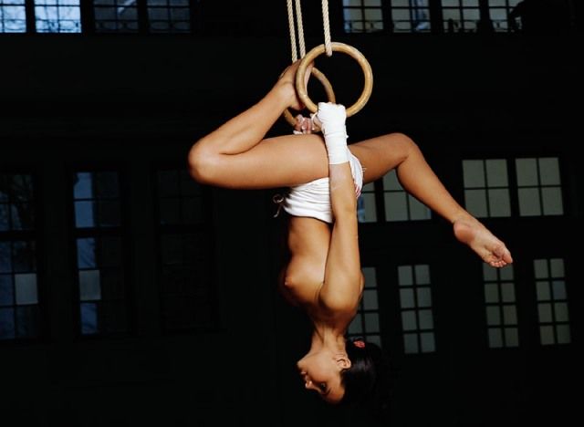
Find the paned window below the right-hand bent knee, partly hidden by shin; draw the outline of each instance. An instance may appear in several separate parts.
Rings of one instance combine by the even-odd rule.
[[[403,190],[395,171],[383,176],[383,202],[385,221],[428,220],[432,216],[427,206]]]

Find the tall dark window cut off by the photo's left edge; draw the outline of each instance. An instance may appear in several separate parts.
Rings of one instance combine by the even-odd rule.
[[[33,178],[0,174],[0,339],[39,336]]]

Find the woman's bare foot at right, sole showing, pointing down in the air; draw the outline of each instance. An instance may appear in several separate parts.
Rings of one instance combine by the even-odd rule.
[[[454,221],[454,235],[489,266],[503,267],[513,263],[506,245],[474,218]]]

